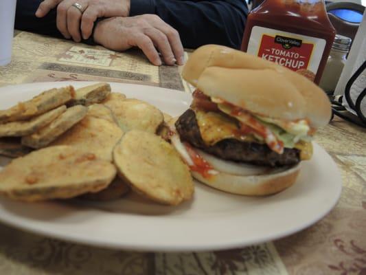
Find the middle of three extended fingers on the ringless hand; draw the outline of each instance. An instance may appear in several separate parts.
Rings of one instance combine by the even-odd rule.
[[[176,59],[174,58],[172,48],[170,47],[170,43],[165,34],[156,28],[146,28],[144,29],[144,33],[149,36],[152,42],[158,47],[165,64],[174,65]]]

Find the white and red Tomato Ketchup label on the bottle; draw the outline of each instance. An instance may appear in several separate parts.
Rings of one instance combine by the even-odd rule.
[[[314,78],[325,44],[324,39],[255,26],[247,52]]]

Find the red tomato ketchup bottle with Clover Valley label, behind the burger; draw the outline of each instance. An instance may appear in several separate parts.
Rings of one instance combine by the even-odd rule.
[[[323,0],[266,0],[249,13],[241,50],[319,84],[335,34]]]

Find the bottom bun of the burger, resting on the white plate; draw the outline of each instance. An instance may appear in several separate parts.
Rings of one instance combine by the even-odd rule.
[[[295,184],[299,171],[300,164],[268,175],[240,176],[219,172],[205,178],[200,173],[191,172],[195,179],[218,190],[238,195],[263,196],[281,192]]]

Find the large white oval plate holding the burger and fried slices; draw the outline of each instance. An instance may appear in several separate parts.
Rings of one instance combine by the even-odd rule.
[[[87,83],[35,83],[0,89],[0,109],[52,87]],[[180,91],[111,84],[121,91],[179,115],[190,104]],[[4,162],[4,159],[2,159]],[[1,163],[1,159],[0,159]],[[196,183],[192,201],[160,206],[130,195],[111,202],[21,203],[0,199],[0,220],[38,234],[98,245],[149,251],[238,248],[292,234],[319,221],[341,194],[341,176],[323,148],[302,164],[297,183],[269,197],[230,195]]]

